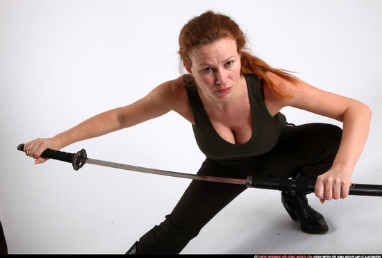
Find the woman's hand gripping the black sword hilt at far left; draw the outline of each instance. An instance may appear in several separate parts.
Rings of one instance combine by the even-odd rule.
[[[35,164],[44,163],[49,160],[47,157],[41,157],[41,154],[47,148],[50,148],[51,150],[60,150],[60,141],[55,137],[38,138],[24,144],[24,152],[27,156],[35,159]]]

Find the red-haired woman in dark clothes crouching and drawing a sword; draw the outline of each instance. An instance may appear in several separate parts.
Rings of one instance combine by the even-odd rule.
[[[59,150],[174,110],[192,123],[206,155],[198,175],[311,178],[322,203],[346,198],[367,139],[369,107],[269,67],[245,46],[244,34],[230,17],[210,11],[194,17],[179,37],[179,55],[188,74],[159,85],[131,105],[99,114],[53,138],[30,141],[26,155],[39,164],[47,160],[40,157],[46,148]],[[280,112],[286,106],[342,121],[343,130],[324,123],[289,124]],[[192,181],[165,221],[128,253],[181,252],[244,189]],[[281,200],[304,232],[329,230],[322,214],[308,205],[306,194],[283,191]]]

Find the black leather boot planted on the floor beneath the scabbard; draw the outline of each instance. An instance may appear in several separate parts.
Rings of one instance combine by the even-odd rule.
[[[281,192],[281,202],[294,221],[300,221],[301,230],[309,234],[323,234],[329,230],[324,216],[308,205],[305,193]]]

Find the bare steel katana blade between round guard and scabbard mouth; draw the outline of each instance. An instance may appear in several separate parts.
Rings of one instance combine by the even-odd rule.
[[[85,160],[85,163],[99,165],[99,166],[107,166],[114,169],[124,169],[129,171],[137,171],[137,172],[150,173],[155,175],[167,175],[167,176],[171,176],[175,178],[188,178],[188,179],[202,180],[202,181],[209,181],[209,182],[224,182],[224,183],[230,183],[230,184],[247,185],[250,183],[249,181],[251,181],[251,177],[247,179],[238,179],[238,178],[220,178],[220,177],[210,176],[210,175],[193,175],[188,173],[166,171],[161,169],[149,169],[149,168],[144,168],[142,166],[132,166],[132,165],[120,164],[116,162],[107,162],[104,160],[94,160],[90,158]]]

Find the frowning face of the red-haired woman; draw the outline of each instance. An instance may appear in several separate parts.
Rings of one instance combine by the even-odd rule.
[[[187,68],[201,93],[221,100],[234,94],[240,79],[240,54],[235,40],[224,38],[194,49]]]

